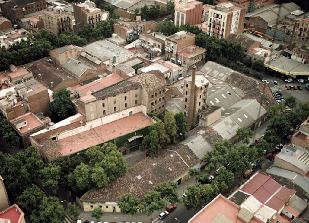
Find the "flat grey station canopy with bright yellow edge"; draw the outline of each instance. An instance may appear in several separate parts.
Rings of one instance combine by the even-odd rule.
[[[267,61],[264,66],[286,75],[309,75],[309,66],[281,55]]]

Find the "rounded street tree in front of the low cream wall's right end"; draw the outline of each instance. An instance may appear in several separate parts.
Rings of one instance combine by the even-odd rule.
[[[135,215],[138,212],[140,200],[133,197],[131,193],[121,195],[120,201],[117,203],[121,212],[124,214]]]

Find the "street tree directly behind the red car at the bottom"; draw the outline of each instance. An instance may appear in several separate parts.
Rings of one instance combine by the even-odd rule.
[[[171,181],[163,181],[161,184],[155,186],[155,190],[161,194],[161,198],[165,199],[165,205],[167,207],[167,202],[177,203],[178,202],[178,192],[177,183]]]

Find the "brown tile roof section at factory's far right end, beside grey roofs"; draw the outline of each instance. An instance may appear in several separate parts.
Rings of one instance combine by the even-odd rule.
[[[243,90],[244,99],[256,99],[266,110],[276,103],[269,86],[252,77],[233,72],[225,82]]]

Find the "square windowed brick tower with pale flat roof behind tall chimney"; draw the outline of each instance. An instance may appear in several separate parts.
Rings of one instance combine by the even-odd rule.
[[[184,95],[183,95],[183,111],[184,115],[188,116],[189,112],[193,115],[193,125],[198,122],[199,113],[206,107],[209,81],[204,75],[193,75],[184,79]],[[194,91],[192,86],[192,79],[195,82]],[[194,94],[193,107],[190,107],[191,94]]]

